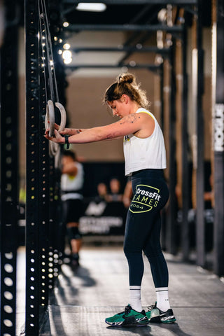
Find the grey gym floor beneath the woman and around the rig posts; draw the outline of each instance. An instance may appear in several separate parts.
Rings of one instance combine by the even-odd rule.
[[[85,246],[76,271],[62,265],[41,336],[220,336],[224,330],[224,283],[218,276],[165,254],[169,267],[169,300],[176,316],[171,325],[151,323],[139,328],[111,328],[106,317],[128,303],[128,269],[122,246]],[[25,251],[18,253],[18,332],[25,318],[22,307]],[[155,302],[148,260],[144,258],[142,305]]]

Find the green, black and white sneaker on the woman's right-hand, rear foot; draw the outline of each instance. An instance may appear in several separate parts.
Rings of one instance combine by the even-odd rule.
[[[167,311],[162,311],[156,307],[156,302],[152,306],[148,307],[148,311],[146,311],[146,316],[148,317],[151,323],[174,323],[176,318],[174,317],[174,313],[172,309],[168,309]]]

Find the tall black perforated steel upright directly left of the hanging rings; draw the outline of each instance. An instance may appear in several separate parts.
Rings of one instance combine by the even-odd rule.
[[[48,305],[49,158],[43,137],[45,86],[38,39],[38,2],[25,1],[27,206],[26,206],[26,321],[25,335],[38,335]]]

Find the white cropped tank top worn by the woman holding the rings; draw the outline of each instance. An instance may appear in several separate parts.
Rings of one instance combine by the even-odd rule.
[[[140,108],[137,113],[148,113],[155,121],[155,128],[150,137],[141,139],[134,134],[124,137],[125,175],[132,175],[141,169],[165,169],[167,167],[166,149],[162,130],[153,114]]]

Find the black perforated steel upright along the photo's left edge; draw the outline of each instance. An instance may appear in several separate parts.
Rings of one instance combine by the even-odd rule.
[[[18,248],[18,27],[10,22],[16,1],[6,3],[1,47],[1,335],[15,336]],[[15,18],[13,18],[15,19]]]

